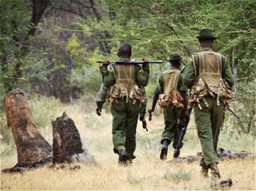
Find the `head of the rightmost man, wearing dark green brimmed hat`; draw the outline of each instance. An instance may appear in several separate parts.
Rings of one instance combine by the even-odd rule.
[[[216,37],[213,36],[213,31],[208,27],[201,28],[199,30],[199,36],[196,38],[199,40],[202,48],[211,48],[213,41],[216,40]]]

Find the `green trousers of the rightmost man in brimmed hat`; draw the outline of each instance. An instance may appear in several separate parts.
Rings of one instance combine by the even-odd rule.
[[[203,153],[200,166],[209,168],[210,164],[219,163],[217,157],[217,144],[220,127],[223,122],[225,106],[221,101],[218,106],[216,98],[213,98],[211,95],[207,95],[204,98],[209,104],[209,107],[206,107],[204,101],[200,101],[202,109],[198,107],[197,103],[193,108],[197,134]]]

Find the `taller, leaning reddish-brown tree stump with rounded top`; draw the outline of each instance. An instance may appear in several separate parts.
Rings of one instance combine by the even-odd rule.
[[[24,91],[12,90],[6,94],[3,104],[18,152],[15,167],[38,166],[51,161],[52,146],[41,136]]]

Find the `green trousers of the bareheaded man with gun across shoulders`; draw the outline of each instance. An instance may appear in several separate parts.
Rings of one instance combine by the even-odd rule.
[[[133,158],[136,148],[136,127],[139,117],[139,103],[133,100],[126,103],[126,99],[118,99],[114,103],[111,113],[113,115],[112,134],[115,149],[125,148],[127,155]]]

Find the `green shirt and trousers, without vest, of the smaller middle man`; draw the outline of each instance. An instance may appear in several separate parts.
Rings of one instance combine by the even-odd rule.
[[[175,67],[171,67],[170,69],[179,70]],[[177,90],[179,92],[187,92],[187,88],[182,83],[182,75],[179,75],[179,80],[177,84]],[[157,86],[155,88],[155,94],[162,94],[163,90],[163,73],[160,73],[158,76]],[[173,141],[173,148],[176,148],[176,145],[179,141],[179,135],[182,130],[181,125],[177,125],[177,120],[183,118],[183,112],[181,108],[176,108],[173,104],[168,104],[165,109],[163,110],[164,114],[164,124],[165,128],[162,134],[161,143],[163,140],[169,140],[169,144]],[[180,148],[182,148],[183,143],[180,144]]]

